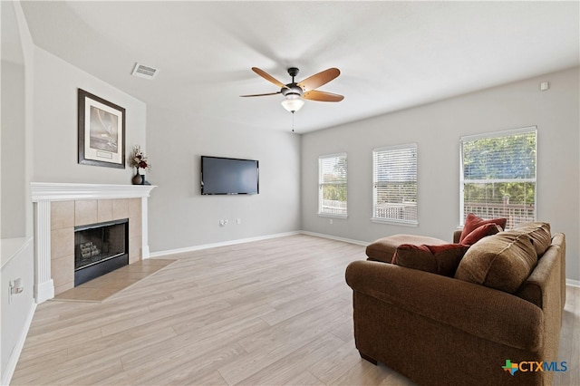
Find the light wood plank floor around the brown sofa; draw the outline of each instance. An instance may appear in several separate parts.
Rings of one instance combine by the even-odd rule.
[[[412,384],[354,348],[344,270],[363,246],[298,235],[168,258],[102,303],[40,304],[11,384]],[[579,299],[555,384],[580,384]]]

